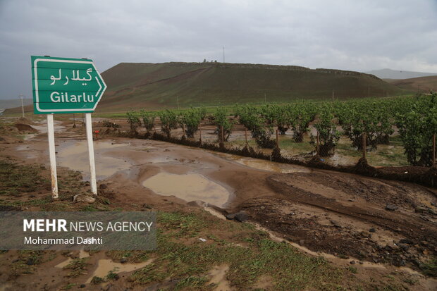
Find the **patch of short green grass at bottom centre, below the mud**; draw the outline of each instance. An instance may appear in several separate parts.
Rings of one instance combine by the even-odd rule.
[[[290,290],[290,286],[335,290],[340,283],[341,271],[326,260],[301,254],[289,244],[273,242],[252,225],[217,221],[207,213],[159,212],[158,221],[159,247],[151,252],[156,259],[130,275],[128,280],[134,284],[163,281],[170,276],[182,278],[180,287],[199,287],[207,282],[204,275],[211,266],[221,264],[228,264],[227,279],[240,289],[254,285],[264,274],[275,280],[276,290]],[[232,231],[232,239],[245,247],[236,245],[230,238],[219,239],[205,233],[213,229]],[[197,237],[208,237],[208,240],[200,242]],[[184,243],[190,239],[195,242]]]

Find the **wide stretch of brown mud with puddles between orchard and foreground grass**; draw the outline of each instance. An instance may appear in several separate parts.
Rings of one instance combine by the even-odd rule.
[[[86,174],[85,141],[70,137],[70,132],[59,132],[56,137],[58,161]],[[27,162],[48,165],[44,138],[36,135],[23,144],[9,144],[4,152],[21,159],[31,153]],[[223,153],[228,149],[216,145],[202,144],[199,149],[197,142],[186,143],[196,147],[125,137],[95,142],[97,175],[111,188],[111,202],[173,209],[201,200],[215,205],[210,210],[217,216],[243,210],[250,215],[250,222],[304,252],[328,254],[341,266],[353,259],[362,263],[357,263],[359,266],[376,270],[406,266],[420,271],[421,264],[437,254],[435,188],[383,180],[379,173],[388,173],[386,169],[370,167],[365,161],[348,169],[372,177],[324,170],[330,166],[316,156],[309,168],[269,161],[262,153],[245,152],[263,159],[257,160]],[[422,168],[402,167],[388,174],[402,176],[405,171],[416,176],[424,173]],[[193,186],[199,189],[193,191]],[[398,209],[387,211],[386,204]],[[217,268],[214,274],[221,277],[224,267]],[[432,290],[437,284],[430,282]]]

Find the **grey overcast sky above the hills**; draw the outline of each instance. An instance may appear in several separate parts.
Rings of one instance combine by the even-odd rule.
[[[30,56],[223,60],[437,73],[437,0],[0,0],[0,99],[32,97]]]

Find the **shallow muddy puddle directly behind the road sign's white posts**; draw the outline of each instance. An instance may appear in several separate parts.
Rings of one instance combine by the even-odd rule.
[[[131,164],[125,159],[111,156],[109,151],[129,144],[115,144],[111,141],[94,141],[94,156],[97,180],[108,178],[118,171],[127,170]],[[68,167],[82,172],[83,178],[90,178],[90,161],[88,157],[87,141],[67,140],[59,144],[56,151],[59,166]]]

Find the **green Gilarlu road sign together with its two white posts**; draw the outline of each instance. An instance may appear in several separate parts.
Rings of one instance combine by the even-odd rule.
[[[58,198],[54,144],[54,113],[85,113],[91,190],[97,195],[91,113],[96,109],[106,84],[92,60],[32,56],[33,107],[35,114],[47,114],[51,193]]]

